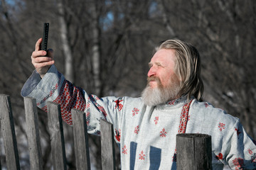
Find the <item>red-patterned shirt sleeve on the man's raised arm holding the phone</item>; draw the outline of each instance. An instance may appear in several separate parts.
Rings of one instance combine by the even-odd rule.
[[[114,129],[117,131],[122,122],[124,98],[98,98],[87,94],[85,90],[66,80],[54,65],[50,67],[43,79],[34,71],[24,84],[21,96],[36,98],[37,106],[46,112],[47,101],[60,104],[62,118],[68,125],[73,124],[72,108],[83,111],[87,119],[87,131],[91,134],[100,134],[100,119],[114,124]]]

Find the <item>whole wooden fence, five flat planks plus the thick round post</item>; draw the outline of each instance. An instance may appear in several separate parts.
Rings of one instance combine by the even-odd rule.
[[[43,158],[41,153],[36,100],[34,98],[24,98],[24,106],[26,113],[26,132],[28,137],[30,166],[31,169],[41,170],[43,169]],[[67,169],[60,106],[56,103],[48,102],[47,107],[53,169]],[[20,169],[14,129],[14,118],[9,96],[0,94],[0,111],[1,133],[4,138],[7,169]],[[90,169],[85,114],[76,109],[73,109],[71,113],[73,118],[76,169]],[[113,125],[111,123],[107,123],[105,120],[100,120],[100,125],[102,169],[115,169]],[[183,138],[185,140],[183,140]],[[177,169],[211,169],[211,147],[209,147],[211,144],[208,136],[198,134],[180,135],[177,136],[177,140],[179,140],[177,141],[177,160],[183,160],[183,162],[177,161]],[[197,145],[205,147],[199,148]],[[195,154],[195,151],[198,152],[198,154]],[[197,159],[198,163],[195,164]]]

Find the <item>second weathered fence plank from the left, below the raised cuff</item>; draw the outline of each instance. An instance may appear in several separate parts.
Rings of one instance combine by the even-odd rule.
[[[24,98],[28,149],[29,149],[29,162],[31,169],[43,170],[43,158],[41,151],[41,141],[38,128],[38,112],[36,107],[36,99]]]

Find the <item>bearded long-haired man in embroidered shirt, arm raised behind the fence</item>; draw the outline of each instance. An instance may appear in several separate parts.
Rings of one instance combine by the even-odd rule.
[[[36,98],[44,111],[46,101],[59,103],[69,125],[72,108],[84,111],[91,134],[100,134],[100,119],[112,123],[122,169],[176,169],[176,134],[184,132],[211,136],[213,169],[255,169],[256,148],[239,119],[202,102],[200,57],[192,45],[181,40],[160,45],[149,62],[142,98],[98,98],[65,80],[53,52],[42,57],[41,41],[31,56],[36,70],[21,95]]]

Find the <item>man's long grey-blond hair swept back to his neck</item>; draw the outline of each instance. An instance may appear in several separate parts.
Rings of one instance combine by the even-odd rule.
[[[201,79],[200,55],[196,47],[181,40],[166,40],[161,49],[173,49],[176,53],[174,71],[181,79],[180,94],[188,94],[188,99],[195,96],[198,101],[203,99],[203,81]]]

